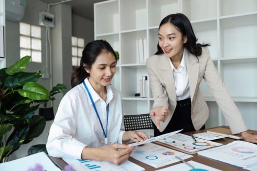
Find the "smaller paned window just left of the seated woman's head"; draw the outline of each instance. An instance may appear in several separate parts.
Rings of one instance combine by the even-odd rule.
[[[84,39],[77,38],[72,36],[71,37],[71,45],[72,45],[72,66],[79,66],[80,65],[80,58],[82,57],[82,51],[84,49]]]

